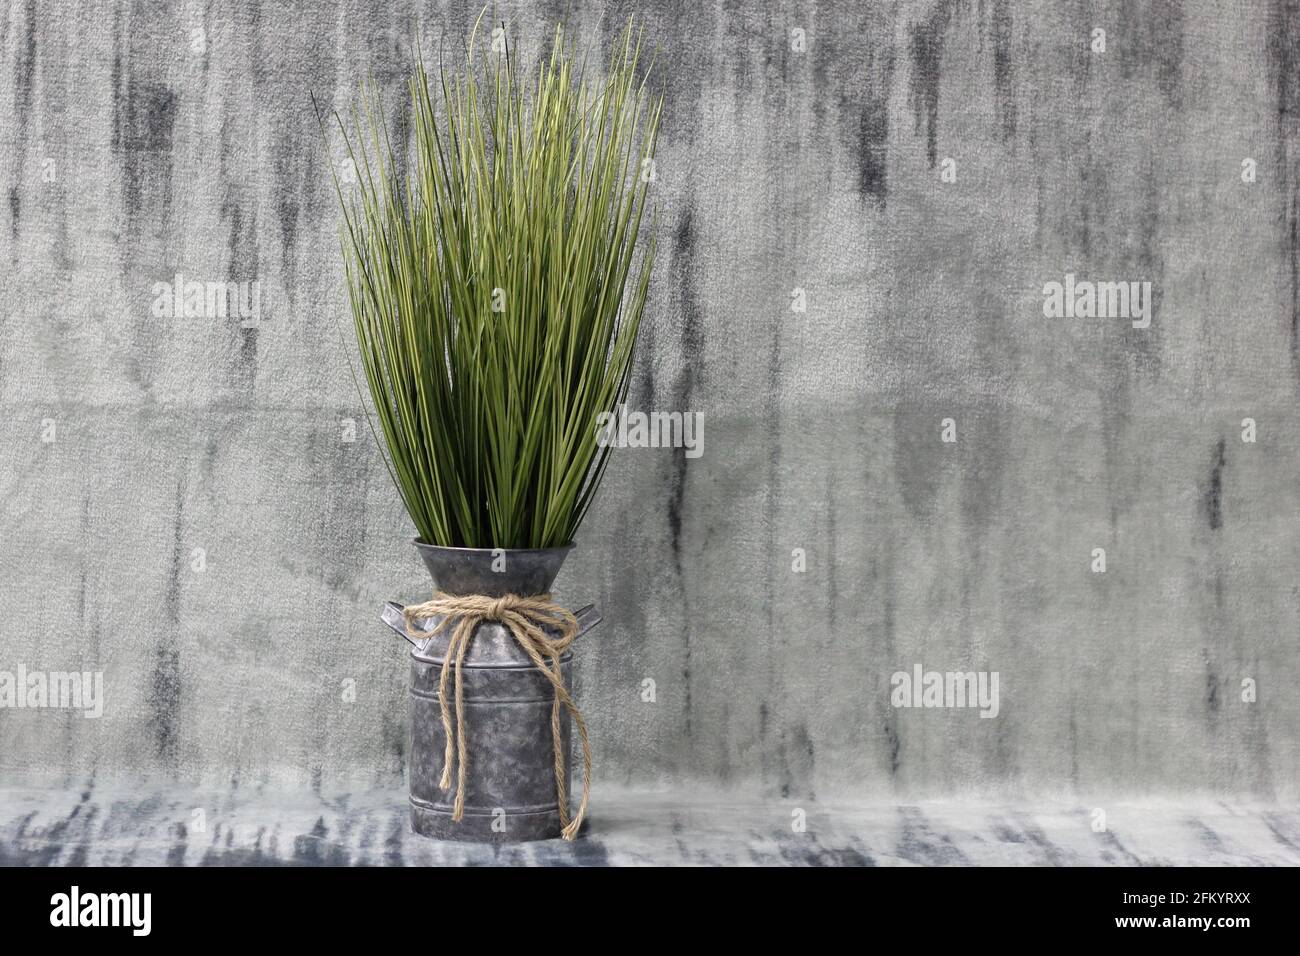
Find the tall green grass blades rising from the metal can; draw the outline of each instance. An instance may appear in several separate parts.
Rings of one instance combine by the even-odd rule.
[[[630,25],[601,77],[559,29],[529,79],[508,51],[476,57],[476,33],[463,69],[430,81],[416,68],[410,163],[373,83],[351,124],[338,120],[358,181],[350,196],[339,187],[348,294],[420,537],[554,548],[604,473],[598,416],[628,390],[663,99],[638,78]]]

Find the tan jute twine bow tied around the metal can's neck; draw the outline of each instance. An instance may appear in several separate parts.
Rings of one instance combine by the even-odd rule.
[[[417,620],[442,617],[442,622],[433,631],[424,631],[415,627]],[[546,679],[555,688],[555,702],[551,705],[551,739],[555,741],[555,792],[559,797],[560,835],[566,840],[572,840],[582,826],[582,817],[586,816],[586,797],[592,787],[592,744],[586,737],[586,722],[578,713],[573,698],[569,697],[564,687],[564,674],[560,671],[560,654],[577,637],[577,618],[567,607],[560,607],[551,601],[550,594],[536,597],[519,597],[506,594],[504,597],[486,597],[484,594],[454,596],[441,591],[432,601],[408,605],[403,610],[407,633],[412,637],[428,637],[442,631],[447,623],[455,618],[456,627],[451,632],[447,643],[447,653],[442,659],[442,678],[438,683],[438,704],[442,708],[442,730],[447,739],[447,749],[442,761],[442,780],[438,786],[442,790],[451,787],[452,762],[452,728],[451,708],[447,704],[447,678],[448,665],[454,665],[456,672],[456,727],[455,727],[455,762],[456,762],[456,800],[452,805],[451,818],[456,822],[465,813],[465,767],[469,754],[465,748],[465,714],[464,697],[462,693],[460,676],[465,659],[465,650],[469,640],[474,636],[478,624],[489,620],[499,622],[510,631],[515,643],[524,649],[529,659],[537,666]],[[551,627],[559,631],[559,637],[551,637],[543,628]],[[571,819],[568,813],[568,793],[564,773],[564,741],[560,734],[560,706],[568,709],[577,724],[578,737],[582,740],[582,803],[578,804],[577,814]]]

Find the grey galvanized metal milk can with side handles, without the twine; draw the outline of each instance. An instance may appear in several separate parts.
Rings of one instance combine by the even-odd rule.
[[[547,593],[572,549],[572,545],[536,550],[438,548],[421,541],[415,545],[433,578],[434,591],[489,597]],[[411,644],[411,827],[443,840],[516,843],[558,838],[562,823],[555,788],[551,683],[506,626],[485,622],[474,631],[463,674],[465,806],[463,818],[452,821],[455,788],[438,786],[446,747],[438,687],[455,624],[448,622],[436,635],[408,635],[402,611],[402,605],[389,601],[382,617]],[[580,636],[601,623],[599,611],[590,605],[575,617]],[[428,632],[441,623],[441,618],[430,618],[424,627]],[[572,652],[560,658],[566,685],[569,685],[571,659]],[[452,728],[455,734],[455,723]],[[569,740],[569,718],[563,711],[560,739]],[[564,749],[569,749],[567,743]],[[564,766],[569,766],[568,756],[566,752]],[[571,784],[567,780],[569,793]]]

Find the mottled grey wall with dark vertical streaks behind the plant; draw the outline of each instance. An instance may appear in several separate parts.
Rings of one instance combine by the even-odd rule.
[[[0,670],[105,682],[99,719],[0,710],[0,779],[402,771],[377,609],[428,581],[342,440],[309,91],[395,91],[411,27],[477,4],[373,7],[0,20]],[[618,454],[562,576],[607,614],[598,778],[1295,797],[1300,4],[645,7],[663,255],[632,401],[706,444]],[[593,9],[595,51],[632,7]],[[530,51],[562,12],[497,16]],[[259,324],[152,315],[177,273],[256,280]],[[1150,281],[1150,326],[1044,317],[1066,273]],[[998,715],[893,708],[918,663],[997,671]]]

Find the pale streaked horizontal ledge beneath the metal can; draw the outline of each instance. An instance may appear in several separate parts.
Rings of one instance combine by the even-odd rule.
[[[0,791],[0,865],[35,866],[1296,866],[1300,813],[1239,803],[1110,808],[734,801],[606,791],[572,843],[411,832],[396,790]],[[800,816],[802,814],[802,816]],[[796,821],[802,827],[796,830]]]

